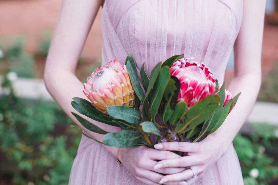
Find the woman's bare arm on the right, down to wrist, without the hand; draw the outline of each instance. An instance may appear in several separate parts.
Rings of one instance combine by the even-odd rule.
[[[230,83],[232,95],[242,92],[231,114],[214,135],[224,146],[233,141],[250,113],[261,85],[261,50],[266,0],[244,0],[243,20],[235,41],[235,72]],[[229,134],[227,134],[229,133]]]

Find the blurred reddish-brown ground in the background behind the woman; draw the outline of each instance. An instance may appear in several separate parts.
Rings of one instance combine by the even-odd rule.
[[[26,50],[34,52],[43,39],[43,32],[53,32],[61,0],[0,0],[0,38],[26,37]],[[101,10],[100,10],[101,11]],[[101,58],[102,35],[100,11],[84,47],[83,57],[96,61]],[[263,75],[278,61],[278,26],[266,25],[264,30]]]

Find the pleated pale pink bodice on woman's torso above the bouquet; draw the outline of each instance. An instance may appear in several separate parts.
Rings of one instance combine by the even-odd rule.
[[[221,83],[242,21],[242,0],[106,0],[103,65],[131,53],[138,69],[170,56],[204,62]]]

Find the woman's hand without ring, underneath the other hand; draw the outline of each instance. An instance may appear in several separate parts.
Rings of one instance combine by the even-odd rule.
[[[185,170],[182,167],[169,167],[154,169],[157,161],[179,158],[178,154],[171,151],[151,149],[146,146],[122,148],[119,153],[119,160],[125,168],[132,173],[136,179],[148,185],[159,185],[162,174],[174,174]],[[170,182],[166,185],[177,183]]]

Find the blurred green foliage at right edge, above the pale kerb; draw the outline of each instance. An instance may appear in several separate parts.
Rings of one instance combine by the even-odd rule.
[[[278,102],[278,62],[275,63],[261,84],[258,100]]]

